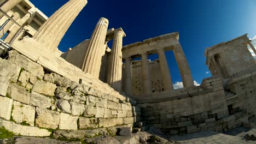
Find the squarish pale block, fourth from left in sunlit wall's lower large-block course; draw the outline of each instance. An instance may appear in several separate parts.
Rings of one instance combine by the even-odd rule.
[[[60,129],[77,130],[77,116],[60,113]]]

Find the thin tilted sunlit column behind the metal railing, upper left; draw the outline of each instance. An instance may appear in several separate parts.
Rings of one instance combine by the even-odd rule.
[[[22,19],[18,20],[17,23],[20,26],[23,26],[30,18],[36,13],[35,8],[31,8],[28,10],[28,13],[22,17]],[[10,41],[15,37],[15,34],[19,31],[20,27],[14,23],[13,28],[10,29],[10,33],[7,35],[7,37],[4,39],[7,43],[10,43]]]

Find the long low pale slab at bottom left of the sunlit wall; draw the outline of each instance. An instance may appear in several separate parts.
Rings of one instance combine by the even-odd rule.
[[[22,136],[50,136],[51,134],[46,129],[20,125],[10,121],[4,121],[3,119],[0,119],[0,127],[4,127],[9,131],[13,131],[15,135]]]

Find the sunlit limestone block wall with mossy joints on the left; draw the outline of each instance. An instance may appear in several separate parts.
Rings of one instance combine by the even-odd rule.
[[[91,83],[82,85],[50,73],[16,51],[0,59],[0,82],[0,127],[17,135],[49,136],[49,129],[107,131],[139,121],[136,101],[132,105],[99,93]]]

